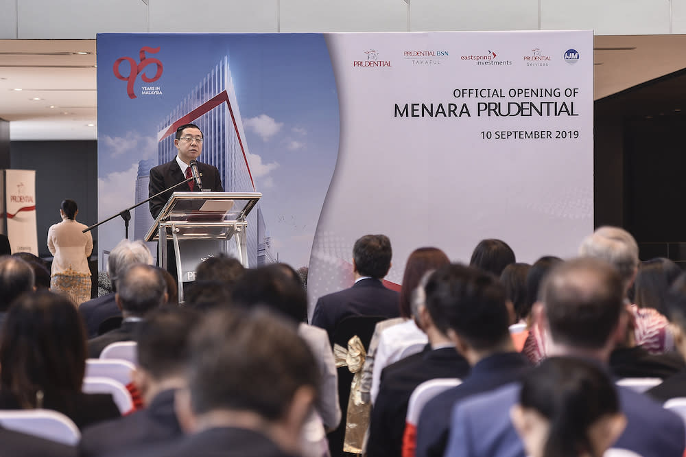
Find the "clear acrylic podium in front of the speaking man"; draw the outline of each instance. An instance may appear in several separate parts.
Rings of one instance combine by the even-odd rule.
[[[158,242],[158,259],[167,268],[167,241],[173,242],[176,258],[178,298],[183,301],[183,283],[195,279],[198,263],[223,252],[235,240],[239,261],[248,268],[246,235],[248,213],[262,197],[259,192],[174,192],[145,235]],[[162,236],[159,234],[163,233]],[[223,246],[222,243],[224,242]]]

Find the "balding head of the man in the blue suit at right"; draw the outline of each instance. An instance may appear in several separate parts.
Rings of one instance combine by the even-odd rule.
[[[548,274],[541,300],[554,342],[602,349],[619,324],[624,288],[609,263],[581,257],[561,263]]]

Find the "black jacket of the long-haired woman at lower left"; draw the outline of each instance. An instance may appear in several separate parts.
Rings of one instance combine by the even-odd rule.
[[[82,430],[88,425],[120,416],[110,394],[46,395],[43,408],[61,412]],[[21,405],[12,393],[0,390],[0,410],[21,410]]]

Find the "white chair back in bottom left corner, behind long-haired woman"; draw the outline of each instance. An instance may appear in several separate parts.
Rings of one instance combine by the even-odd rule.
[[[53,410],[0,410],[0,425],[8,430],[75,446],[81,439],[69,417]]]

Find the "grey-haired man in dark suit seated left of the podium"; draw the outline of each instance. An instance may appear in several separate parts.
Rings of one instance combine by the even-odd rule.
[[[113,292],[86,301],[79,307],[79,312],[86,324],[88,338],[95,338],[98,335],[97,330],[104,320],[121,317],[121,310],[115,302],[117,280],[119,275],[134,263],[152,263],[150,249],[141,241],[132,242],[122,239],[107,257],[107,275],[112,281]]]

